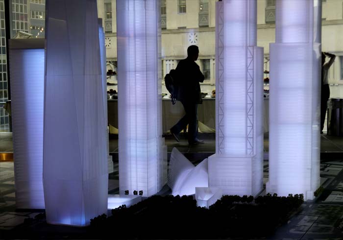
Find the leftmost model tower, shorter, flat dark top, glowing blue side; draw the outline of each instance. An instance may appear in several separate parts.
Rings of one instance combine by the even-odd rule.
[[[9,42],[16,208],[44,209],[44,39]]]

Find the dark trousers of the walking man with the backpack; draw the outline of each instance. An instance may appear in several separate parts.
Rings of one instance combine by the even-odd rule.
[[[172,128],[172,132],[179,134],[188,124],[188,143],[193,143],[197,135],[197,104],[181,101],[186,115],[182,117]]]

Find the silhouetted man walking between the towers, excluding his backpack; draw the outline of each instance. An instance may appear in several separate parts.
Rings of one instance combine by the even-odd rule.
[[[177,100],[182,103],[186,115],[171,128],[171,133],[175,140],[180,142],[179,133],[188,124],[188,143],[202,144],[204,141],[196,138],[197,104],[202,103],[199,82],[203,82],[205,77],[195,62],[199,56],[199,48],[195,45],[188,47],[187,55],[188,57],[181,60],[176,67],[179,83]]]

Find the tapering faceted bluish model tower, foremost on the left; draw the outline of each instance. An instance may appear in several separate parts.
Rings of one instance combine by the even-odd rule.
[[[43,182],[47,222],[107,213],[107,146],[96,0],[48,0]]]

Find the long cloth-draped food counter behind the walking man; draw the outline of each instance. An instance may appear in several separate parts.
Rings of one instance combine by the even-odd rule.
[[[108,123],[115,128],[118,128],[118,100],[107,100],[107,114]],[[178,120],[185,115],[185,111],[181,102],[176,101],[175,105],[172,105],[172,100],[170,98],[163,98],[162,114],[163,133],[166,133]],[[264,98],[263,116],[264,132],[268,132],[269,98]],[[216,129],[216,98],[202,98],[202,104],[198,105],[198,120],[209,129]],[[206,132],[206,130],[204,132]]]

